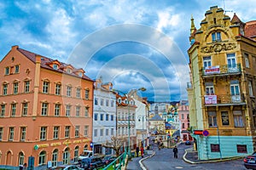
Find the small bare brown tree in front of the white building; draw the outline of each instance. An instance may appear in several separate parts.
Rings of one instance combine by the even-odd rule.
[[[126,139],[124,137],[112,136],[111,140],[110,141],[107,140],[107,142],[105,144],[102,144],[102,146],[105,148],[113,149],[116,153],[116,156],[119,157],[120,149],[122,146],[124,146],[125,140]]]

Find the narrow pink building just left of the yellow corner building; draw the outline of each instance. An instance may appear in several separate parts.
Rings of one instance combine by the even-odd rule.
[[[183,142],[187,140],[193,140],[190,136],[188,131],[189,128],[189,102],[188,101],[181,101],[180,105],[178,106],[178,116],[181,125],[180,130],[180,138]]]

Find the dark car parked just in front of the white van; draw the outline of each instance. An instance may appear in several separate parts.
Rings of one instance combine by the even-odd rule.
[[[99,167],[105,167],[105,163],[101,157],[88,157],[79,161],[80,167],[84,169],[97,169]]]

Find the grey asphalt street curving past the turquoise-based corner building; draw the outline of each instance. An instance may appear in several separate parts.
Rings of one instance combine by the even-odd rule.
[[[156,154],[151,158],[143,161],[145,167],[148,170],[157,169],[236,169],[236,170],[246,170],[243,166],[242,159],[235,161],[223,161],[214,163],[201,163],[201,164],[189,164],[183,161],[184,150],[192,147],[191,145],[180,144],[178,148],[178,157],[175,159],[173,157],[172,149],[156,149]]]

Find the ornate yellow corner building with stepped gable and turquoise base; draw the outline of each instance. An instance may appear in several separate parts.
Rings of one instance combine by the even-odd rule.
[[[255,150],[256,22],[211,7],[195,28],[191,19],[190,126],[199,159],[245,156]]]

